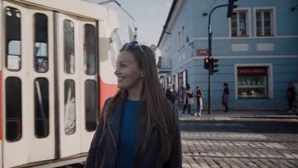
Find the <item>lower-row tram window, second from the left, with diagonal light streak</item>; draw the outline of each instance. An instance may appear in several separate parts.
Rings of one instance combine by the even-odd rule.
[[[49,135],[49,82],[46,78],[34,81],[34,120],[35,137],[46,138]]]

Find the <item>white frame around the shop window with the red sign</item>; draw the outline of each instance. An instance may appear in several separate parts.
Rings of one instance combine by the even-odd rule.
[[[268,78],[268,98],[273,99],[273,65],[272,63],[236,63],[234,64],[235,99],[238,99],[238,67],[241,66],[266,66]]]

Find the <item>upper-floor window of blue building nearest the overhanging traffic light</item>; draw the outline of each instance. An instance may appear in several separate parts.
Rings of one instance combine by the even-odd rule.
[[[231,18],[232,37],[248,36],[248,11],[235,11]]]

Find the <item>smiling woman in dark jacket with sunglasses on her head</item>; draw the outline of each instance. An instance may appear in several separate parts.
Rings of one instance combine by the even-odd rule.
[[[178,113],[159,83],[155,57],[132,41],[117,57],[119,90],[102,108],[86,168],[181,168]]]

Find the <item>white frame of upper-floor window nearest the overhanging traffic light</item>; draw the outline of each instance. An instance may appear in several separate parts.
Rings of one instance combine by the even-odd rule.
[[[228,29],[229,29],[229,37],[232,37],[232,38],[238,38],[238,37],[242,37],[242,38],[245,38],[245,37],[249,37],[251,36],[251,9],[249,7],[239,7],[237,8],[237,10],[234,10],[235,12],[242,12],[242,11],[245,11],[247,12],[247,15],[246,15],[246,25],[247,25],[247,30],[246,30],[246,33],[247,33],[247,36],[232,36],[232,21],[231,21],[231,18],[228,18]],[[239,15],[237,15],[237,34],[239,34]]]

